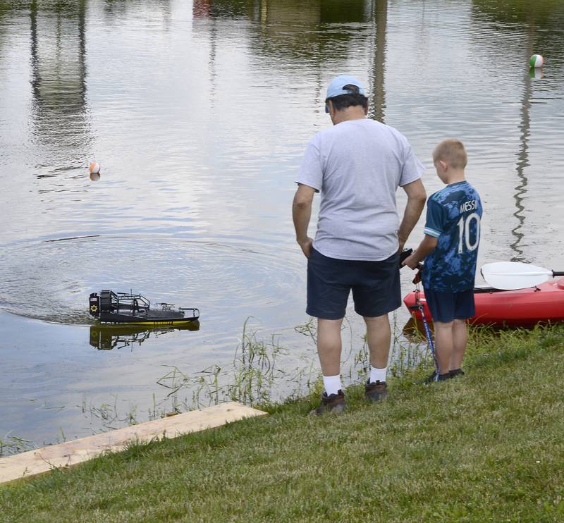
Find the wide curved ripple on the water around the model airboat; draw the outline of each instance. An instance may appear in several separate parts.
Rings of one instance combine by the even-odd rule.
[[[0,255],[0,307],[36,319],[90,324],[88,295],[142,293],[152,302],[264,310],[294,299],[305,270],[293,252],[159,235],[100,235],[12,245]]]

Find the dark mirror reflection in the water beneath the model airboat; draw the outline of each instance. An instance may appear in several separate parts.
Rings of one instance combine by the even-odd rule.
[[[197,331],[200,329],[199,321],[192,321],[188,325],[179,325],[176,327],[145,327],[140,325],[129,326],[90,326],[90,345],[98,350],[112,350],[129,348],[133,350],[135,346],[141,345],[148,340],[150,336],[157,338],[166,333],[174,331]]]

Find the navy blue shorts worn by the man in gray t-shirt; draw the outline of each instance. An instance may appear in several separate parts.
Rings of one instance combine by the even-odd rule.
[[[355,311],[382,316],[401,305],[398,253],[381,262],[329,258],[316,250],[307,259],[307,309],[322,319],[345,317],[353,290]]]

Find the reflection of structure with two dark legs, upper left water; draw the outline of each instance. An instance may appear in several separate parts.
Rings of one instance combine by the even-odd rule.
[[[80,166],[92,142],[86,101],[87,0],[56,2],[51,10],[30,3],[32,124],[37,147],[61,164],[38,178],[57,176]],[[40,8],[39,8],[40,6]]]

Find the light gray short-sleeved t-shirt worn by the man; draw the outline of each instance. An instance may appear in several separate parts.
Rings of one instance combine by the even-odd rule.
[[[296,180],[321,192],[314,249],[338,259],[390,257],[398,250],[396,190],[424,170],[405,136],[369,118],[317,133]]]

